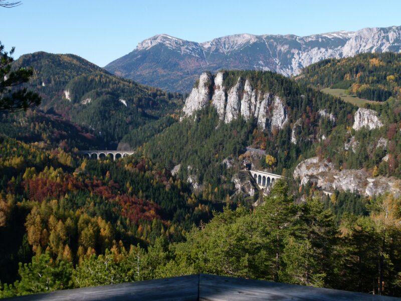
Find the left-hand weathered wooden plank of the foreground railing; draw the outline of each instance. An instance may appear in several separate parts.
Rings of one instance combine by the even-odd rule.
[[[5,301],[142,301],[198,299],[199,275],[163,278],[121,284],[112,284],[77,289],[66,289],[21,297],[6,298]]]

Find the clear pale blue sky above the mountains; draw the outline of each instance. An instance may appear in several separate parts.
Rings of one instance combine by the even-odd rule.
[[[401,1],[359,0],[22,0],[0,8],[0,41],[14,57],[47,51],[74,53],[104,66],[151,36],[196,42],[221,36],[299,36],[401,25]]]

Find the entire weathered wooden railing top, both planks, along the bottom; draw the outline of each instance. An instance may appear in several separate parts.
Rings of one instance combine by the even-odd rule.
[[[198,274],[96,287],[59,290],[49,293],[6,298],[7,301],[128,301],[128,300],[400,300],[344,290],[316,288],[286,283]]]

